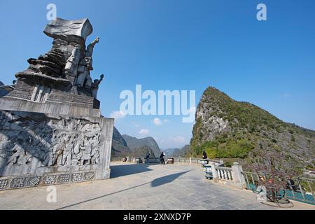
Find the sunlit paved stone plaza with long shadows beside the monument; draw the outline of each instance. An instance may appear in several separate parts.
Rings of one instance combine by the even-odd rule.
[[[198,165],[112,163],[111,179],[55,186],[57,203],[48,203],[47,187],[0,192],[0,209],[281,209],[256,202],[255,194],[204,179]],[[293,202],[288,209],[315,209]]]

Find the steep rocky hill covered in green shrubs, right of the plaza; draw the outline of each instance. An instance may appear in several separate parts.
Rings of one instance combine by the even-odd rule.
[[[195,156],[206,150],[210,158],[238,158],[253,162],[274,151],[283,163],[314,167],[315,132],[284,123],[247,102],[237,102],[209,87],[197,107],[191,148]]]

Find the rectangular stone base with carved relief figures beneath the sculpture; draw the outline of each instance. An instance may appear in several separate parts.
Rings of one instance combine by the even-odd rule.
[[[113,119],[0,111],[0,190],[109,179]]]

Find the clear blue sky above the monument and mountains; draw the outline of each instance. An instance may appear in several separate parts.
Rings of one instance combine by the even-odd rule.
[[[27,59],[50,50],[52,39],[43,34],[48,3],[56,4],[59,18],[89,18],[88,41],[101,38],[92,78],[106,75],[99,90],[104,116],[119,111],[120,92],[137,84],[156,92],[196,90],[197,102],[211,85],[315,130],[313,0],[0,0],[4,83],[27,68]],[[256,20],[258,3],[267,5],[267,21]],[[155,125],[154,118],[168,122]],[[161,148],[188,144],[192,125],[181,116],[116,120],[122,134],[155,137]]]

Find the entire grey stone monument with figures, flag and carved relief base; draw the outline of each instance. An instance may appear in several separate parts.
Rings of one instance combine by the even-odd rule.
[[[104,75],[90,76],[92,30],[87,19],[50,22],[51,50],[0,98],[0,190],[109,179],[113,119],[97,100]]]

